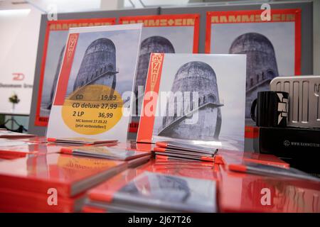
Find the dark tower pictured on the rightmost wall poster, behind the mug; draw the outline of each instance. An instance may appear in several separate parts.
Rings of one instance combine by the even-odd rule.
[[[250,118],[257,92],[269,90],[270,81],[279,75],[274,48],[265,35],[245,33],[235,38],[229,53],[247,55],[245,117]]]

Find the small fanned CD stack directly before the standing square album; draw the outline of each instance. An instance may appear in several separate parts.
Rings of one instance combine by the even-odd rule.
[[[215,155],[218,153],[218,149],[176,141],[162,141],[156,143],[154,153],[156,158],[159,159],[215,162]]]

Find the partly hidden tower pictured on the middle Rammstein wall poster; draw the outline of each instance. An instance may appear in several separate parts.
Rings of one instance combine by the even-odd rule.
[[[138,60],[138,68],[137,68],[137,78],[134,85],[134,94],[138,98],[138,87],[145,86],[146,84],[146,76],[148,74],[149,60],[151,52],[164,52],[164,53],[174,53],[174,46],[171,42],[159,35],[150,36],[144,39],[141,43],[140,54]],[[144,93],[144,92],[142,92]],[[140,114],[140,109],[142,106],[142,97],[139,97],[140,103],[138,103],[138,99],[136,101],[136,113]],[[139,119],[137,119],[139,121]]]

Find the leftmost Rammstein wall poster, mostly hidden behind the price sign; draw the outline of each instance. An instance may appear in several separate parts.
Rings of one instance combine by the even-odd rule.
[[[77,20],[48,21],[41,60],[41,74],[38,87],[36,126],[47,126],[53,103],[55,86],[58,81],[65,41],[69,28],[88,26],[108,26],[115,18],[91,18]]]

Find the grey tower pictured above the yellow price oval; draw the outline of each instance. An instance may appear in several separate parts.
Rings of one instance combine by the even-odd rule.
[[[112,40],[99,38],[85,50],[73,91],[89,84],[116,86],[116,49]]]

